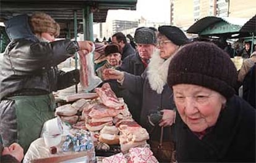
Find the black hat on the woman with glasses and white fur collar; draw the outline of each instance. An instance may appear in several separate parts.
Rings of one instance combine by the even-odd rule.
[[[158,27],[158,31],[177,46],[190,42],[184,32],[176,26],[163,25]]]

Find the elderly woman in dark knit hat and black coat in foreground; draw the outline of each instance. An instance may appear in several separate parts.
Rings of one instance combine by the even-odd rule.
[[[234,95],[228,54],[207,42],[182,47],[169,64],[178,162],[255,162],[255,109]]]

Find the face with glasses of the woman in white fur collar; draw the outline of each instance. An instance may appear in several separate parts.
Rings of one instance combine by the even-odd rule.
[[[168,59],[179,49],[179,46],[173,44],[166,36],[160,35],[158,36],[158,49],[160,49],[160,57]]]

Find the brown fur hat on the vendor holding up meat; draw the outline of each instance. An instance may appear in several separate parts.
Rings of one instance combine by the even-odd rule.
[[[55,20],[43,13],[43,12],[35,12],[30,17],[30,25],[32,27],[33,33],[53,33],[55,37],[59,36],[60,27],[59,24],[55,22]]]

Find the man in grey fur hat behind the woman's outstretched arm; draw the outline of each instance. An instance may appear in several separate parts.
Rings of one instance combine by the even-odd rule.
[[[136,53],[126,57],[122,65],[117,70],[125,71],[134,75],[141,75],[147,68],[151,55],[156,48],[156,33],[147,27],[137,28],[134,34]],[[140,121],[140,111],[142,106],[142,94],[129,92],[127,89],[120,89],[111,84],[114,92],[124,98],[130,113],[135,121]]]

